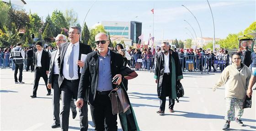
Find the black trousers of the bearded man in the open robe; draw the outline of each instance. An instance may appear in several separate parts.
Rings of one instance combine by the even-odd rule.
[[[165,111],[166,96],[169,96],[169,107],[172,109],[175,104],[175,99],[171,99],[171,75],[164,74],[162,82],[162,93],[160,97],[160,110]]]

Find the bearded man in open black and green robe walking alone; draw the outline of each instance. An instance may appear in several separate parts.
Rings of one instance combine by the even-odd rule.
[[[160,109],[156,112],[165,113],[166,97],[169,97],[169,111],[174,112],[176,95],[176,81],[183,79],[178,53],[170,49],[169,42],[161,44],[162,52],[157,54],[155,66],[155,83],[157,96],[160,99]]]

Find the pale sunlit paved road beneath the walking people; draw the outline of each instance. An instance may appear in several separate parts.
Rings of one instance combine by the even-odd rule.
[[[52,96],[40,79],[37,98],[31,99],[34,73],[23,72],[26,84],[14,84],[11,69],[0,70],[0,130],[34,130],[59,131],[52,129],[53,109]],[[136,79],[129,80],[128,94],[135,111],[139,127],[143,131],[173,131],[173,130],[221,130],[224,125],[224,88],[212,91],[213,84],[219,74],[185,73],[181,83],[185,89],[185,97],[176,103],[170,113],[158,115],[159,99],[156,94],[156,84],[153,73],[138,72]],[[242,120],[244,127],[234,121],[230,128],[233,130],[256,131],[256,91],[253,92],[253,107],[245,109]],[[166,106],[167,108],[167,106]],[[77,109],[78,110],[78,109]],[[90,111],[90,109],[89,109]],[[72,119],[70,113],[69,130],[79,131],[79,116]],[[118,128],[121,127],[118,122]],[[89,131],[93,131],[89,112]]]

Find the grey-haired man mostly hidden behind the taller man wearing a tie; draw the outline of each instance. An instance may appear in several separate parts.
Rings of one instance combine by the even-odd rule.
[[[55,37],[56,46],[59,49],[59,45],[61,43],[64,43],[67,41],[66,36],[59,34],[57,37]],[[50,62],[50,70],[48,73],[48,89],[53,88],[53,125],[52,128],[60,127],[60,120],[59,120],[59,100],[60,100],[60,94],[61,90],[59,89],[59,66],[58,66],[58,51],[55,50],[51,53],[51,62]],[[75,119],[75,116],[77,114],[75,109],[75,103],[74,99],[71,99],[70,102],[70,109],[72,110],[72,117]]]

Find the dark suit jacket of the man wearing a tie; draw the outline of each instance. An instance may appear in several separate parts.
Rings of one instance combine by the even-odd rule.
[[[67,51],[67,48],[69,46],[69,44],[71,44],[70,42],[66,42],[66,43],[62,43],[59,45],[59,56],[58,56],[58,65],[59,65],[59,79],[58,79],[58,83],[59,83],[59,87],[61,87],[61,84],[64,80],[64,76],[63,76],[63,58],[65,55],[65,52]],[[89,45],[85,45],[83,43],[79,42],[79,58],[78,60],[81,60],[81,54],[88,54],[92,52],[92,49]],[[78,77],[80,79],[81,73],[80,73],[80,67],[77,66],[78,68]]]

